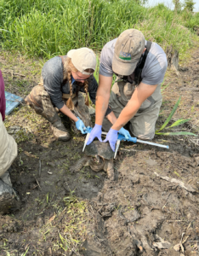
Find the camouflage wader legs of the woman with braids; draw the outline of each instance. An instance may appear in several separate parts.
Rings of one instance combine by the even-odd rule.
[[[67,100],[63,99],[65,102]],[[44,87],[41,85],[35,86],[31,93],[26,96],[26,103],[35,109],[36,113],[41,114],[45,119],[47,119],[51,124],[55,125],[57,122],[60,122],[60,116],[58,115],[58,109],[56,109],[53,103],[50,100],[48,92],[44,90]],[[82,93],[79,92],[77,96],[73,97],[72,102],[74,105],[77,103],[77,107],[72,111],[76,116],[82,119],[84,125],[91,126],[90,114],[88,111],[88,106],[84,103],[84,97]],[[76,131],[75,122],[71,120],[71,125],[74,131]]]

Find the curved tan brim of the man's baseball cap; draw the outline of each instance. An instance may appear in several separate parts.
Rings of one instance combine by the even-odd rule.
[[[137,61],[135,62],[122,62],[118,61],[116,56],[113,55],[112,59],[112,70],[114,73],[117,73],[122,76],[129,76],[134,73],[134,69],[137,66]]]

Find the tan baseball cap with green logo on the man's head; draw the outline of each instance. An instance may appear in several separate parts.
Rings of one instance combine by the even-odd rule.
[[[114,73],[128,76],[134,69],[145,49],[145,37],[137,29],[128,29],[117,38],[112,70]]]

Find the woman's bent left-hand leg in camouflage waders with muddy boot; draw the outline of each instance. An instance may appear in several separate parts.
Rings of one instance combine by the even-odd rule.
[[[43,90],[43,86],[35,86],[31,90],[31,93],[26,96],[25,102],[27,105],[31,106],[36,113],[42,115],[50,122],[51,131],[56,139],[65,142],[70,140],[70,134],[65,129],[65,125],[62,124],[60,116],[54,108],[48,92]]]

